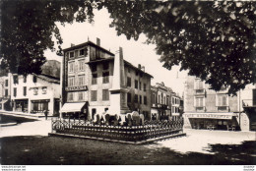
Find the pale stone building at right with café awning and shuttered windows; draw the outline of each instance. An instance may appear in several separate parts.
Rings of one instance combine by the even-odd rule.
[[[248,100],[250,101],[248,106],[254,108],[254,91],[249,87],[247,90],[239,91],[236,96],[229,96],[227,88],[215,91],[200,79],[189,76],[184,92],[184,127],[192,129],[250,130],[252,122],[249,114],[244,110],[244,105],[248,94],[250,94],[251,98]]]

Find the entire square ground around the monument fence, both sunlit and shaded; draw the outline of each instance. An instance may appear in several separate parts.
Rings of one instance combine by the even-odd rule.
[[[1,128],[1,164],[256,164],[255,132],[185,130],[187,137],[143,145],[47,137],[40,119]]]

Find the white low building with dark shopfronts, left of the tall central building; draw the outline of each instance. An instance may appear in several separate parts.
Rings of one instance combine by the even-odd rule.
[[[43,113],[49,116],[59,113],[59,80],[46,75],[19,76],[13,74],[12,106],[13,111],[26,113]]]

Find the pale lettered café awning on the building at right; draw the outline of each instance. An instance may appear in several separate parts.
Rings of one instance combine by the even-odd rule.
[[[232,119],[236,115],[234,113],[185,113],[184,116],[195,119]]]

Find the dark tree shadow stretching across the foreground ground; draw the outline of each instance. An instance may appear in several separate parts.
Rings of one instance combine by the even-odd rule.
[[[0,139],[3,165],[255,165],[256,142],[210,144],[214,154],[56,137]],[[158,146],[158,145],[156,145]]]

